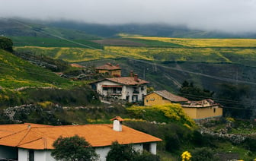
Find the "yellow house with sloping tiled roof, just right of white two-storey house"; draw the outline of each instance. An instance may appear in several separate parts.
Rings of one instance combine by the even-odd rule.
[[[169,93],[167,90],[158,90],[149,93],[144,98],[145,106],[164,105],[168,103],[186,103],[188,99]]]

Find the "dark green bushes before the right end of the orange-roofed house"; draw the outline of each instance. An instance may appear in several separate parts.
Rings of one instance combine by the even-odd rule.
[[[107,161],[159,161],[159,156],[143,151],[134,150],[132,144],[119,144],[114,141],[107,153]]]

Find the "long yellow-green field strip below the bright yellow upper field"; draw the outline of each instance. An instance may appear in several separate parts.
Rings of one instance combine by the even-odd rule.
[[[245,47],[133,47],[104,46],[100,49],[69,47],[16,46],[18,52],[30,51],[67,62],[85,62],[102,58],[136,58],[154,62],[234,63],[256,66],[256,48]]]

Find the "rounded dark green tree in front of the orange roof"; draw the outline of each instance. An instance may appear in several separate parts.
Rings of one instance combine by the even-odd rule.
[[[51,155],[56,160],[63,161],[91,161],[97,160],[98,155],[84,137],[75,135],[73,137],[60,136],[53,143]]]

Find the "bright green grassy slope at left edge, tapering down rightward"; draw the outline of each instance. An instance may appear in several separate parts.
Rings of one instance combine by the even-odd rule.
[[[66,87],[72,85],[69,80],[32,65],[2,49],[0,49],[0,64],[0,86],[3,88]]]

